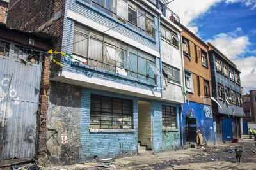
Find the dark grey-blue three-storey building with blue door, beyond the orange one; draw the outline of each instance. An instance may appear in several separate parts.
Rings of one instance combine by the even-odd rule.
[[[243,104],[241,98],[241,73],[223,53],[209,45],[212,76],[212,96],[216,135],[218,141],[241,138]]]

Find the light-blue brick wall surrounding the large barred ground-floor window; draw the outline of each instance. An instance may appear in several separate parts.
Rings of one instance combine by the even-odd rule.
[[[90,96],[98,94],[110,97],[131,99],[133,101],[133,125],[135,132],[89,132],[90,128]],[[81,160],[135,155],[138,148],[138,100],[109,92],[83,88],[81,94]]]

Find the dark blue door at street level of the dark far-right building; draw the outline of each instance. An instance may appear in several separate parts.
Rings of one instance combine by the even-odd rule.
[[[232,141],[233,133],[232,133],[232,119],[231,118],[223,118],[221,121],[221,132],[222,132],[222,140],[223,141]]]

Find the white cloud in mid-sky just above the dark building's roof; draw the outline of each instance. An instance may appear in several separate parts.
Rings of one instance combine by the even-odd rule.
[[[249,39],[247,36],[238,36],[239,32],[243,32],[241,28],[228,33],[221,33],[208,39],[216,48],[229,59],[236,59],[237,55],[241,55],[248,49]]]

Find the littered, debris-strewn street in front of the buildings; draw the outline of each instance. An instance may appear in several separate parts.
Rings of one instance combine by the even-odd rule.
[[[235,162],[234,148],[243,150],[240,164]],[[243,136],[239,143],[124,157],[110,164],[94,162],[95,165],[74,164],[46,169],[256,169],[256,152],[253,151],[256,151],[255,142]]]

